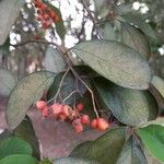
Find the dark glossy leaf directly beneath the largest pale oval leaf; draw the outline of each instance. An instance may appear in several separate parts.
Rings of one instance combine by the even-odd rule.
[[[120,87],[103,78],[95,78],[94,84],[102,101],[119,121],[139,126],[156,118],[157,104],[148,91]]]

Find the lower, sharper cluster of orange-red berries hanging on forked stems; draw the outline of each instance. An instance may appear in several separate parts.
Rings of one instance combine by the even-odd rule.
[[[75,132],[82,132],[86,125],[101,131],[109,128],[109,124],[104,118],[91,120],[89,115],[81,114],[84,109],[82,103],[78,104],[75,109],[72,109],[69,105],[52,104],[47,106],[46,102],[38,101],[36,102],[36,108],[42,112],[44,117],[48,117],[51,114],[57,120],[69,121]]]

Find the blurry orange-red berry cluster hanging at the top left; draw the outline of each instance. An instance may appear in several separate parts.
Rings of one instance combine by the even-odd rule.
[[[42,0],[33,0],[34,7],[37,10],[37,21],[42,23],[42,27],[47,30],[51,27],[52,22],[59,21],[58,15],[48,8]]]

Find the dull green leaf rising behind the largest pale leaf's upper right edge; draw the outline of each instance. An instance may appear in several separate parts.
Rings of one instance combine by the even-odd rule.
[[[133,48],[147,59],[151,56],[151,48],[148,38],[139,28],[121,22],[121,43]]]

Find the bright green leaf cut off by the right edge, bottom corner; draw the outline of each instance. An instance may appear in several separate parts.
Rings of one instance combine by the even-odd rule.
[[[137,130],[145,148],[159,161],[164,162],[164,127],[150,125]]]

